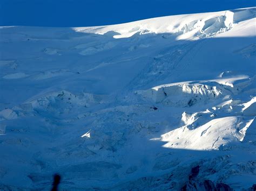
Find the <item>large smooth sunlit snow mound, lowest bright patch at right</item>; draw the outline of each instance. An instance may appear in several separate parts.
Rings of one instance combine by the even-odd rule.
[[[245,136],[246,123],[241,117],[224,117],[196,128],[183,126],[161,136],[164,147],[186,148],[192,150],[218,150],[220,146],[242,140]],[[221,132],[221,133],[220,133]],[[243,132],[243,133],[242,133]]]

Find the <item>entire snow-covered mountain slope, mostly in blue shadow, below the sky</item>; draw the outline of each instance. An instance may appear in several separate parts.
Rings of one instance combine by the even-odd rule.
[[[0,189],[252,187],[255,14],[0,27]]]

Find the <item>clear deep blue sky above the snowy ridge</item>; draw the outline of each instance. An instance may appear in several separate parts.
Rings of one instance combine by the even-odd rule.
[[[0,0],[0,26],[96,26],[256,6],[256,0]]]

